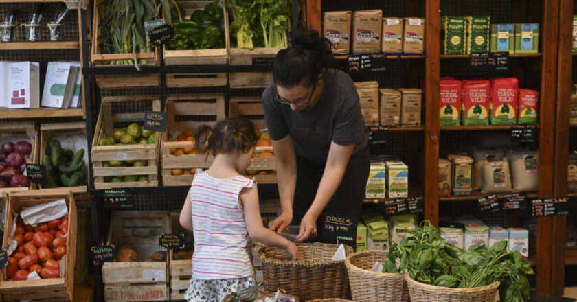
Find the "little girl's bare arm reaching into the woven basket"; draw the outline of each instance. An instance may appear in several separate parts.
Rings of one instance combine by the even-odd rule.
[[[262,225],[256,185],[242,189],[240,192],[240,201],[245,208],[245,222],[251,238],[267,246],[283,248],[296,260],[298,255],[297,246]]]

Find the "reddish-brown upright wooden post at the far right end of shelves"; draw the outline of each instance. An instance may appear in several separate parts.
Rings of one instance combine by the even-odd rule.
[[[554,191],[567,196],[567,157],[569,154],[569,108],[572,79],[573,0],[559,1],[559,40],[557,57],[557,102],[555,118]],[[551,295],[562,296],[565,281],[566,216],[554,216],[551,251]]]

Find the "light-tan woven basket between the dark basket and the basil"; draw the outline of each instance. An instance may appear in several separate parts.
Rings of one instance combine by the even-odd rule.
[[[354,301],[409,301],[409,288],[403,274],[385,274],[371,270],[376,262],[384,264],[386,261],[386,252],[382,250],[361,251],[347,257],[345,264]]]

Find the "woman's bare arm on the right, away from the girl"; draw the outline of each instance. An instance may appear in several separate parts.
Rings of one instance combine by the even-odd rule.
[[[319,218],[330,198],[335,195],[339,185],[341,185],[353,150],[354,143],[347,146],[339,145],[334,141],[330,143],[328,158],[319,189],[317,189],[317,195],[315,200],[313,200],[313,205],[310,205],[310,208],[308,208],[302,218],[297,241],[306,240],[310,235],[317,234],[317,218]]]

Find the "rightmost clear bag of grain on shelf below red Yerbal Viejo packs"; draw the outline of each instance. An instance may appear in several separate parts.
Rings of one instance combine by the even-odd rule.
[[[539,187],[539,152],[521,151],[508,155],[513,174],[513,191],[534,192]]]

